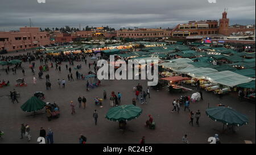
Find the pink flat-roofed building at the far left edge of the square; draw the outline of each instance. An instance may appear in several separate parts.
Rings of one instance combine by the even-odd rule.
[[[21,27],[19,32],[0,32],[0,50],[16,51],[50,44],[48,32],[39,27]]]

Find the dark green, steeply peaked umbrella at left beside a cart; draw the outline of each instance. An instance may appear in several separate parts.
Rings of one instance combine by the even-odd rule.
[[[25,112],[38,111],[46,106],[46,103],[43,100],[38,99],[37,97],[31,97],[27,100],[20,108]]]

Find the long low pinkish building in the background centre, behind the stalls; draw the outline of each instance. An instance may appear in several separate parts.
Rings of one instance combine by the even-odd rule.
[[[151,38],[151,37],[167,37],[171,36],[172,32],[159,28],[138,28],[135,30],[118,30],[117,37],[128,38]]]

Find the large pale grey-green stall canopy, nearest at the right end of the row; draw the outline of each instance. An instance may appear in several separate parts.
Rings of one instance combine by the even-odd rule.
[[[221,85],[229,87],[233,87],[241,83],[247,83],[252,80],[252,78],[241,76],[240,74],[231,72],[229,70],[207,74],[205,78],[208,79],[210,82],[219,83]]]

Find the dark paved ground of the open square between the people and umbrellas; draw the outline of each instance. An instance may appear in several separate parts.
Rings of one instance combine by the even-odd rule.
[[[19,53],[12,53],[16,55]],[[0,139],[0,143],[36,143],[36,139],[39,136],[40,127],[53,129],[55,143],[79,143],[79,136],[82,133],[88,139],[88,143],[139,143],[142,136],[146,136],[146,143],[182,143],[181,137],[184,134],[188,135],[190,143],[208,143],[208,137],[214,136],[218,133],[222,143],[244,143],[244,140],[251,140],[255,143],[255,103],[243,101],[240,102],[236,94],[228,94],[223,97],[222,100],[218,99],[213,93],[203,91],[204,100],[200,102],[191,103],[191,110],[201,111],[200,127],[189,125],[189,112],[183,111],[181,107],[180,114],[171,113],[172,100],[176,99],[180,95],[191,95],[195,92],[187,91],[180,94],[170,94],[167,90],[150,91],[151,99],[148,104],[139,104],[137,106],[143,109],[143,114],[135,119],[127,122],[127,125],[131,131],[122,133],[118,130],[117,122],[110,122],[105,119],[105,114],[110,108],[109,95],[111,91],[118,91],[122,94],[121,104],[131,104],[132,98],[135,93],[133,87],[137,83],[141,83],[143,89],[146,90],[147,82],[142,80],[108,80],[102,81],[102,86],[86,91],[86,81],[76,80],[74,82],[67,82],[66,88],[59,88],[57,85],[57,79],[65,78],[67,81],[68,70],[65,70],[65,62],[61,65],[61,73],[57,72],[55,68],[49,70],[50,81],[52,83],[52,89],[46,90],[45,78],[38,79],[39,61],[36,61],[36,79],[37,83],[32,83],[31,69],[28,68],[28,62],[23,63],[26,76],[24,76],[27,87],[15,87],[15,79],[23,77],[21,70],[17,70],[17,74],[10,73],[6,75],[5,70],[0,71],[0,79],[9,80],[10,87],[0,88],[0,129],[5,132],[3,139]],[[84,75],[89,71],[88,66],[84,62],[75,62],[82,64],[82,72]],[[75,78],[76,70],[72,67],[73,77]],[[44,72],[43,77],[46,75]],[[188,86],[189,87],[189,86]],[[18,98],[19,103],[13,104],[6,95],[9,95],[9,91],[16,89],[21,95]],[[104,107],[100,108],[94,104],[93,99],[95,97],[102,97],[103,90],[107,91],[108,99],[103,102]],[[46,115],[36,115],[35,118],[20,109],[20,106],[29,99],[35,91],[43,91],[45,93],[45,102],[55,101],[60,106],[60,118],[53,119],[48,122]],[[85,110],[79,109],[77,98],[85,96],[87,99]],[[71,115],[71,107],[69,106],[70,100],[76,103],[76,114]],[[214,122],[209,119],[205,114],[205,109],[210,103],[210,107],[216,106],[218,103],[223,103],[227,106],[233,107],[242,114],[246,114],[249,117],[249,124],[237,128],[236,133],[220,133],[222,124]],[[98,124],[94,125],[92,114],[94,110],[98,111]],[[42,110],[44,112],[44,110]],[[148,118],[148,114],[151,114],[156,123],[155,130],[144,127],[144,123]],[[27,142],[26,139],[20,140],[20,124],[29,124],[31,128],[32,139]]]

